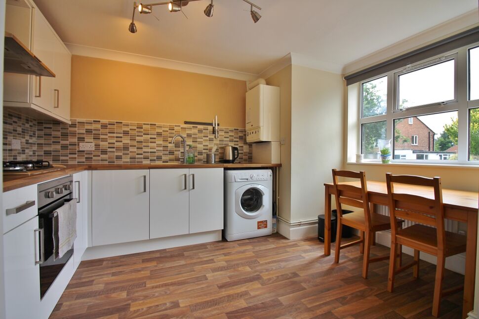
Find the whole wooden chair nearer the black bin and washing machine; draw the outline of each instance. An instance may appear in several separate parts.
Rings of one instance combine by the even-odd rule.
[[[336,169],[333,169],[332,172],[334,195],[336,198],[336,209],[338,212],[336,218],[338,230],[336,232],[336,250],[334,255],[334,262],[339,263],[339,252],[341,249],[359,243],[360,251],[364,254],[362,260],[362,277],[367,278],[367,270],[369,267],[369,263],[389,259],[389,256],[369,258],[369,253],[371,251],[371,241],[373,241],[372,239],[375,236],[375,233],[390,229],[391,222],[388,216],[379,215],[374,212],[371,213],[367,194],[365,172],[354,172]],[[361,187],[359,188],[344,183],[339,184],[338,177],[359,179],[361,181]],[[350,205],[361,209],[359,211],[343,215],[341,204]],[[350,226],[359,230],[361,234],[360,239],[341,245],[343,225]],[[399,251],[400,250],[401,249],[399,247]]]

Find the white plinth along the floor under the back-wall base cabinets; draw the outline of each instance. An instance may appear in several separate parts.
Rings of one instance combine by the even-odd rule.
[[[221,240],[221,230],[86,248],[81,260],[106,258]]]

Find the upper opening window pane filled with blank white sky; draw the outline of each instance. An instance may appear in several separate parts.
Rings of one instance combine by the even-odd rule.
[[[454,60],[399,77],[399,109],[454,99]]]

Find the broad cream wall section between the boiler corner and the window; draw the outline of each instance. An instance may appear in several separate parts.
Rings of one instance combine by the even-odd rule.
[[[323,183],[343,155],[341,75],[292,66],[291,221],[324,213]]]

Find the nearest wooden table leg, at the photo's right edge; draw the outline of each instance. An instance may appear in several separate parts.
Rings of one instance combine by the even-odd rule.
[[[466,272],[464,274],[464,300],[462,304],[462,318],[467,318],[467,314],[474,308],[477,238],[478,212],[469,211],[467,218]]]

